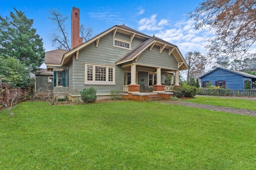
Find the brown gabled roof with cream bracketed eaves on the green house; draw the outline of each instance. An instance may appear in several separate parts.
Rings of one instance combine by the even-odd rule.
[[[134,37],[144,40],[143,43],[141,43],[136,48],[134,48],[132,51],[130,51],[128,54],[126,54],[124,57],[122,57],[122,59],[119,59],[116,62],[116,64],[121,64],[126,61],[131,61],[134,58],[138,57],[138,55],[137,55],[138,53],[142,53],[150,45],[152,45],[152,46],[157,45],[157,46],[160,46],[160,48],[162,48],[162,49],[165,49],[165,48],[168,49],[169,55],[171,53],[174,55],[176,61],[178,61],[178,63],[179,63],[179,67],[181,70],[188,69],[188,64],[186,63],[184,57],[182,56],[182,54],[180,53],[180,51],[176,45],[168,43],[167,41],[164,41],[155,36],[150,37],[144,33],[141,33],[141,32],[136,31],[130,27],[127,27],[126,25],[114,25],[110,29],[107,29],[106,31],[100,33],[99,35],[96,35],[92,39],[86,41],[85,43],[82,43],[81,45],[79,45],[78,47],[75,47],[74,49],[72,49],[70,51],[66,51],[66,50],[58,51],[58,54],[57,54],[57,52],[54,52],[54,51],[46,52],[46,59],[45,59],[44,63],[46,63],[47,65],[62,66],[64,64],[68,63],[68,61],[71,59],[71,57],[73,55],[76,55],[76,59],[78,59],[78,54],[81,49],[83,49],[83,48],[87,47],[88,45],[95,43],[95,42],[96,42],[96,47],[98,47],[98,42],[100,41],[100,38],[104,37],[105,35],[107,35],[110,32],[113,32],[113,37],[115,36],[116,32],[130,35],[131,42]],[[56,57],[54,57],[56,59],[52,59],[53,57],[48,57],[48,56],[54,56],[54,55],[56,55]]]

